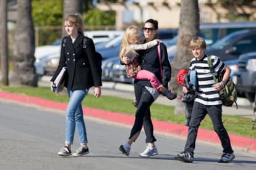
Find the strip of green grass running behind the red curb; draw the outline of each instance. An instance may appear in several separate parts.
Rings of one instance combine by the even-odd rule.
[[[6,92],[25,94],[33,97],[40,97],[42,99],[54,100],[57,102],[68,102],[69,100],[67,95],[54,95],[53,92],[50,91],[49,87],[33,88],[0,86],[0,89]],[[126,113],[129,115],[134,115],[136,110],[136,108],[131,104],[130,99],[122,99],[107,95],[101,95],[100,98],[95,99],[92,94],[88,94],[85,97],[85,100],[83,100],[82,105],[85,107]],[[178,124],[184,124],[185,122],[185,115],[175,115],[174,107],[160,105],[158,103],[153,103],[151,106],[151,118]],[[223,115],[224,126],[230,134],[256,138],[256,129],[251,129],[251,122],[252,119],[250,118]],[[205,119],[203,119],[200,128],[213,130],[213,126],[208,115],[205,117]]]

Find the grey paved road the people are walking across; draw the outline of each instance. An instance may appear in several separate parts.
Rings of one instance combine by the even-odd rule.
[[[130,156],[118,147],[128,137],[130,127],[85,118],[90,153],[62,158],[57,155],[64,142],[64,111],[29,107],[0,100],[0,169],[256,169],[255,155],[235,150],[229,164],[217,161],[221,148],[197,142],[193,164],[174,160],[184,139],[156,134],[159,155],[140,158],[145,134],[132,146]],[[79,147],[77,136],[72,148]]]

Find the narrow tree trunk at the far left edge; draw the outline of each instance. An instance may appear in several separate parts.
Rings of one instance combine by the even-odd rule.
[[[7,1],[0,1],[0,23],[2,23],[0,28],[0,57],[1,57],[1,74],[2,74],[2,84],[9,85],[8,79],[8,39],[7,39]]]

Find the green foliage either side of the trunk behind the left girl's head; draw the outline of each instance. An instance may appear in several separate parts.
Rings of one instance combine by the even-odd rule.
[[[60,26],[63,22],[64,1],[33,0],[32,17],[35,26]],[[115,25],[116,12],[93,9],[92,0],[83,0],[83,19],[86,25]]]

